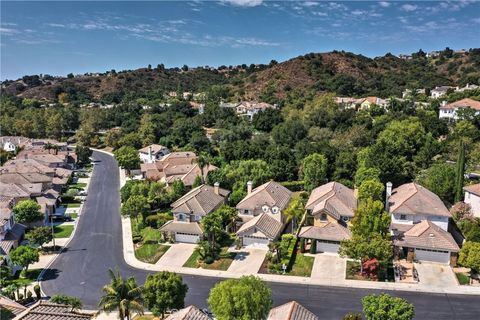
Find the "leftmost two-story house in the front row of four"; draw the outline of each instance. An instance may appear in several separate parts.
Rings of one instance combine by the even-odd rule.
[[[164,224],[160,232],[176,242],[197,243],[203,234],[202,217],[225,204],[229,193],[218,182],[213,187],[204,184],[190,190],[172,203],[173,220]]]

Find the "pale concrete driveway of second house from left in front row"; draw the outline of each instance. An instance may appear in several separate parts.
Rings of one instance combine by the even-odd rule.
[[[238,274],[256,274],[265,260],[267,249],[259,247],[245,247],[240,250],[231,250],[237,252],[235,259],[228,268],[229,272]]]

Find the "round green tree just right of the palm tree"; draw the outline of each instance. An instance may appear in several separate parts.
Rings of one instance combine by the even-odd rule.
[[[154,315],[163,316],[170,309],[181,309],[185,304],[188,286],[176,273],[162,271],[148,275],[144,284],[145,306]]]

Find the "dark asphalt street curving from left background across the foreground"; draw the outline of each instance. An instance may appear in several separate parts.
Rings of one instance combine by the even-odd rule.
[[[118,268],[123,276],[134,276],[142,284],[148,272],[127,265],[123,259],[119,214],[119,172],[109,155],[94,152],[94,174],[84,204],[83,216],[74,238],[46,272],[42,289],[79,297],[85,308],[96,309],[108,269]],[[210,289],[219,278],[183,276],[189,290],[185,304],[207,307]],[[361,311],[361,298],[374,290],[271,283],[274,306],[296,300],[321,319],[342,319],[348,312]],[[387,292],[415,305],[416,319],[480,319],[480,296]]]

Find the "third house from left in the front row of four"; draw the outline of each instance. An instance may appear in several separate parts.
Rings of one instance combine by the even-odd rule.
[[[337,253],[340,242],[351,238],[348,224],[357,209],[353,190],[329,182],[312,191],[305,209],[313,217],[313,225],[302,227],[298,236],[310,245],[316,241],[317,252]]]

